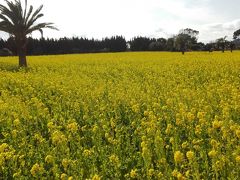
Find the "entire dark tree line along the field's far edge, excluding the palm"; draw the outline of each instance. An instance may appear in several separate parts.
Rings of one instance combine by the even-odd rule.
[[[102,40],[83,37],[72,38],[27,38],[27,55],[56,55],[96,52],[125,51],[222,51],[239,47],[240,30],[234,32],[233,41],[226,36],[209,43],[198,42],[199,32],[190,28],[182,29],[170,38],[149,38],[137,36],[127,41],[123,36],[113,36]],[[0,39],[0,55],[17,55],[17,46],[13,37]]]

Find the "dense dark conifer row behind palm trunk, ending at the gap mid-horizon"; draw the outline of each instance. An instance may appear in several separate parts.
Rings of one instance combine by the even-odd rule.
[[[114,36],[102,40],[87,38],[27,38],[27,55],[73,54],[94,52],[122,52],[127,49],[127,42],[122,36]],[[17,54],[17,46],[14,38],[6,41],[0,39],[0,49],[9,49]]]

